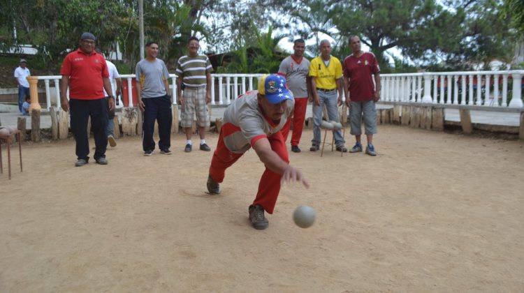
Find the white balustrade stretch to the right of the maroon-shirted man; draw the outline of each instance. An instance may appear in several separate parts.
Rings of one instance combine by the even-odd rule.
[[[381,75],[381,100],[523,107],[524,70]]]

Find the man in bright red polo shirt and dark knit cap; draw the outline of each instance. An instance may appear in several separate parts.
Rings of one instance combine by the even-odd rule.
[[[71,131],[76,140],[76,167],[89,162],[89,141],[87,121],[91,117],[94,133],[94,160],[100,165],[107,165],[105,149],[108,137],[105,128],[108,125],[108,110],[115,108],[115,98],[105,100],[105,92],[112,93],[108,67],[101,54],[94,50],[95,37],[92,33],[82,33],[80,48],[67,54],[60,69],[61,106],[71,115]],[[69,100],[67,89],[69,87]],[[109,104],[109,105],[108,105]],[[108,107],[109,106],[109,107]],[[108,109],[109,108],[109,109]]]

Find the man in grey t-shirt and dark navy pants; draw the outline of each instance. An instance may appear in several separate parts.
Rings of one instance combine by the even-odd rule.
[[[136,64],[136,93],[138,107],[143,112],[142,147],[144,156],[152,156],[154,121],[159,123],[160,153],[170,155],[171,146],[171,96],[169,95],[169,73],[166,64],[157,59],[159,45],[149,42],[145,45],[147,57]]]

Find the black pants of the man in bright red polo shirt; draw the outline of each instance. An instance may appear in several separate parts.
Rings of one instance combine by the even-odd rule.
[[[105,158],[108,137],[105,128],[108,126],[108,103],[105,98],[97,100],[69,100],[71,114],[71,131],[76,140],[76,156],[89,160],[89,140],[87,139],[87,121],[91,117],[91,129],[94,133],[94,159]]]

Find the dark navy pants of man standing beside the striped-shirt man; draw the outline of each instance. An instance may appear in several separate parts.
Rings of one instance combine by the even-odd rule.
[[[143,98],[145,105],[144,119],[142,125],[142,147],[144,151],[154,150],[154,121],[159,123],[159,149],[171,147],[171,123],[173,113],[171,112],[171,99],[168,96],[157,98]]]

